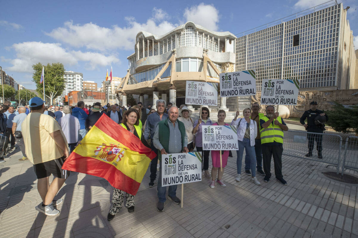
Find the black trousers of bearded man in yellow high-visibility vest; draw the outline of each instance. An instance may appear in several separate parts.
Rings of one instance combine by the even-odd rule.
[[[276,178],[283,178],[282,176],[282,152],[284,148],[282,145],[265,146],[262,144],[262,161],[263,171],[268,178],[271,178],[271,157],[274,157],[275,176]]]

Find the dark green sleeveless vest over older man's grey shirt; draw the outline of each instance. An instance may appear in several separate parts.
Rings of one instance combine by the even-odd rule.
[[[163,148],[165,149],[165,151],[167,153],[169,151],[169,137],[170,137],[170,135],[169,135],[170,130],[169,130],[168,121],[169,121],[169,119],[166,119],[166,120],[160,121],[158,123],[159,142],[163,146]],[[187,146],[187,145],[184,145],[185,126],[184,126],[183,122],[181,122],[179,120],[176,120],[176,121],[178,122],[179,131],[180,131],[180,134],[182,135],[182,150],[183,150],[184,147]],[[160,150],[158,150],[158,159],[161,160],[161,152],[160,152]]]

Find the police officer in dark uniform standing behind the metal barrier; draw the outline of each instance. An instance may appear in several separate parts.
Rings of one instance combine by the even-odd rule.
[[[323,133],[323,131],[325,130],[324,124],[319,123],[319,120],[317,119],[317,117],[324,116],[326,118],[326,121],[328,121],[328,116],[323,111],[317,109],[316,101],[311,102],[310,105],[311,105],[311,109],[307,110],[303,113],[303,115],[300,118],[300,123],[306,128],[307,132]],[[307,124],[305,124],[306,118],[307,118]],[[316,123],[315,123],[315,121],[316,121]],[[311,133],[307,134],[308,154],[306,155],[306,157],[312,156],[314,141],[316,141],[318,158],[319,159],[323,158],[322,157],[322,136],[323,135],[317,135],[317,134],[311,134]]]

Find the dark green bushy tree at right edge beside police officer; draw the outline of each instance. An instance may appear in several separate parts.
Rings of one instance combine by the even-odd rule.
[[[358,134],[358,106],[343,106],[334,102],[332,110],[326,111],[329,118],[329,125],[335,131],[343,133],[354,132]]]

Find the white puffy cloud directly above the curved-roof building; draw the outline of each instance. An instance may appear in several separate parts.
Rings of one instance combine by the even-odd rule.
[[[193,21],[209,30],[219,29],[219,11],[213,5],[205,5],[202,2],[197,6],[187,8],[184,10],[184,17],[186,21]]]

